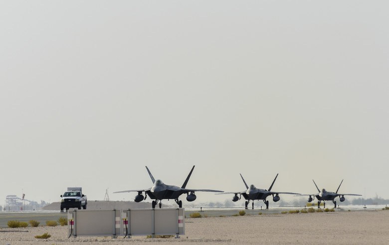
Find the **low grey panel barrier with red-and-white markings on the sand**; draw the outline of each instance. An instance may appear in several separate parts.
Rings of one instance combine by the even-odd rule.
[[[68,210],[68,235],[166,236],[185,235],[183,208],[129,210]]]

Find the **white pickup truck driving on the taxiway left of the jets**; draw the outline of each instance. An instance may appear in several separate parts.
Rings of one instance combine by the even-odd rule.
[[[69,208],[86,209],[86,195],[82,194],[82,187],[68,187],[61,195],[61,211]]]

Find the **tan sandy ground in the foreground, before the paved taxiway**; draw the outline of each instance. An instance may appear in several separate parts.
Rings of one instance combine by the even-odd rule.
[[[186,235],[180,239],[67,239],[67,227],[3,228],[0,244],[389,244],[389,211],[384,210],[187,218],[185,225]],[[52,237],[34,238],[46,232]]]

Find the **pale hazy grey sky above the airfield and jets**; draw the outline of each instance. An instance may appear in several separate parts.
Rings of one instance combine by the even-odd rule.
[[[0,199],[133,200],[112,192],[151,187],[145,165],[178,186],[196,165],[188,188],[242,191],[241,173],[267,189],[279,173],[274,191],[344,179],[389,198],[388,9],[1,0]]]

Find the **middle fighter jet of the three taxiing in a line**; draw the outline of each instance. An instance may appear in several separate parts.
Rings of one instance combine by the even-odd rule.
[[[254,209],[254,200],[262,200],[266,205],[266,209],[268,209],[269,208],[269,201],[266,201],[266,198],[270,195],[273,197],[274,202],[278,202],[280,200],[279,194],[300,195],[299,193],[294,193],[294,192],[274,192],[274,191],[271,191],[271,188],[273,187],[274,182],[277,179],[277,176],[278,176],[278,174],[274,178],[273,183],[271,183],[269,190],[264,190],[264,189],[257,189],[257,188],[255,188],[254,185],[250,185],[250,187],[248,187],[248,185],[246,184],[246,181],[244,181],[244,179],[243,179],[243,176],[240,174],[240,177],[242,178],[243,183],[246,186],[247,190],[241,191],[241,192],[224,192],[224,193],[220,193],[220,194],[234,194],[234,196],[232,197],[233,202],[240,200],[240,198],[243,196],[244,199],[247,200],[244,203],[245,209],[247,209],[247,206],[251,200],[252,200],[252,209]],[[238,197],[238,194],[239,194],[239,197]]]

